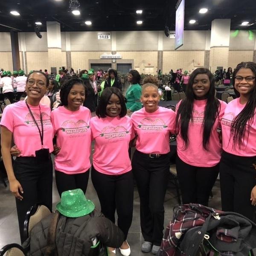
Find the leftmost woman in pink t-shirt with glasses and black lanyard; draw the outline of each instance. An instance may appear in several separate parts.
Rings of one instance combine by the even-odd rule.
[[[40,104],[48,85],[49,79],[44,73],[30,73],[26,81],[26,101],[6,106],[0,122],[3,162],[10,190],[16,197],[21,242],[25,239],[24,221],[29,208],[41,202],[52,209],[51,110]],[[20,150],[13,166],[12,137]]]

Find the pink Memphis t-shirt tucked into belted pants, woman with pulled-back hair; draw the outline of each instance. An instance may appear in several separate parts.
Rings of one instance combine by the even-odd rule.
[[[167,154],[170,152],[169,135],[174,132],[175,113],[171,109],[158,107],[148,113],[145,108],[131,115],[135,134],[138,135],[136,149],[144,154]]]

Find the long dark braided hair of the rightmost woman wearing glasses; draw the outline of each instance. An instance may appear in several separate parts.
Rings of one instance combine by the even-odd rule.
[[[237,65],[236,69],[233,72],[233,77],[236,77],[237,72],[241,68],[249,68],[252,70],[254,76],[256,77],[256,63],[252,61],[248,62],[241,62]],[[236,90],[234,87],[235,93],[237,96],[240,96],[240,93]],[[255,108],[256,108],[256,86],[255,86],[255,80],[254,80],[254,88],[250,92],[250,97],[243,108],[243,110],[233,119],[233,122],[231,124],[231,135],[233,136],[233,147],[235,145],[239,145],[239,148],[241,148],[241,145],[244,141],[245,131],[246,131],[246,124],[248,122],[248,135],[250,131],[250,126],[254,120],[255,116]],[[248,137],[247,137],[248,140]]]

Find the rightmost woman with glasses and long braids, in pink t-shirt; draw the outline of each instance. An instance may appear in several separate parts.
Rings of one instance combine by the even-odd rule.
[[[234,73],[234,90],[221,121],[222,210],[256,221],[256,63],[242,62]]]

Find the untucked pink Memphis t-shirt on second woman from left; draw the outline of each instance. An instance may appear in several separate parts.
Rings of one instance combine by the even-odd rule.
[[[61,106],[52,111],[51,119],[61,148],[55,156],[55,170],[66,174],[86,172],[90,168],[90,110],[81,106],[78,111],[70,111]]]

